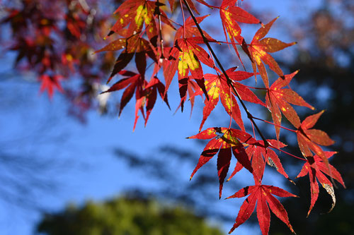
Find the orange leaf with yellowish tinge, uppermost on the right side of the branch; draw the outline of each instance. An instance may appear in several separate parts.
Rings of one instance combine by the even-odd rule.
[[[285,47],[290,47],[296,44],[296,42],[285,43],[272,37],[265,37],[277,19],[278,17],[270,21],[270,23],[262,26],[254,35],[251,44],[249,44],[249,53],[251,54],[253,71],[256,73],[256,67],[258,67],[258,71],[261,74],[265,88],[269,88],[269,81],[264,64],[267,64],[269,68],[277,73],[281,78],[284,76],[284,73],[282,73],[278,63],[268,53],[278,52]]]

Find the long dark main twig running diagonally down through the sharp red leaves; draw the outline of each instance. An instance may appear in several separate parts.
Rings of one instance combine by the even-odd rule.
[[[182,0],[181,0],[182,1]],[[217,62],[217,65],[220,67],[222,73],[224,73],[225,78],[227,79],[227,83],[229,84],[229,86],[232,88],[232,90],[234,91],[234,93],[236,94],[236,97],[239,99],[240,104],[242,105],[242,107],[244,108],[247,117],[250,119],[250,121],[253,123],[254,127],[256,128],[258,134],[261,136],[262,140],[264,141],[265,147],[269,146],[268,141],[265,139],[263,133],[261,132],[261,130],[258,128],[256,122],[253,119],[252,114],[249,112],[249,109],[247,109],[246,104],[244,104],[244,101],[241,100],[241,97],[239,95],[239,92],[237,92],[236,88],[234,88],[234,86],[232,85],[232,80],[229,78],[229,76],[227,75],[226,71],[224,70],[224,67],[222,66],[221,62],[219,61],[219,59],[217,58],[217,55],[215,54],[215,52],[213,51],[212,47],[210,46],[209,42],[207,41],[207,37],[205,37],[204,33],[202,32],[202,28],[200,28],[200,25],[198,23],[198,20],[195,18],[194,13],[192,11],[192,9],[190,8],[188,2],[186,0],[183,0],[185,6],[187,7],[190,16],[193,18],[193,21],[195,23],[195,26],[197,26],[200,35],[202,35],[202,39],[204,41],[204,43],[207,45],[207,48],[210,50],[210,52],[212,53],[212,56],[215,58],[215,61]],[[182,11],[183,12],[183,11]],[[183,16],[184,17],[184,16]]]

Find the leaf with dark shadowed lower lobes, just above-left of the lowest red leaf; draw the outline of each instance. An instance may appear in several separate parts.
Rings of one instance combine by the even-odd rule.
[[[213,127],[207,128],[205,131],[198,133],[197,135],[190,136],[188,138],[193,139],[212,139],[207,143],[202,154],[199,157],[198,164],[190,175],[190,179],[193,178],[195,172],[200,169],[205,163],[209,162],[214,155],[217,155],[217,174],[219,176],[219,198],[222,195],[222,186],[224,179],[229,171],[230,161],[232,154],[246,169],[253,171],[249,157],[247,157],[244,150],[244,145],[241,142],[246,143],[251,140],[252,137],[244,131],[239,131],[233,128]]]

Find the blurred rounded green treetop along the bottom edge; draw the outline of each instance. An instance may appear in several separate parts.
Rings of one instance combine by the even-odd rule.
[[[38,232],[48,235],[222,235],[190,210],[163,205],[153,199],[121,197],[103,203],[69,205],[64,211],[47,214]]]

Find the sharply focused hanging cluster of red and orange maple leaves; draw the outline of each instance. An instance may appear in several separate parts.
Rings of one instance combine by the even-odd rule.
[[[269,54],[285,49],[285,47],[290,47],[295,44],[295,42],[285,43],[272,37],[265,37],[277,18],[263,25],[261,20],[252,16],[251,13],[244,11],[244,9],[239,6],[235,6],[237,0],[224,0],[220,6],[210,6],[202,0],[198,2],[212,8],[212,12],[219,11],[226,40],[231,41],[232,47],[244,68],[245,63],[241,60],[237,45],[248,55],[249,61],[253,67],[253,73],[235,71],[237,67],[229,68],[227,71],[224,71],[224,68],[221,68],[219,64],[215,64],[212,55],[200,46],[200,44],[208,44],[209,46],[211,42],[220,43],[200,28],[199,24],[207,16],[195,17],[193,15],[192,18],[189,17],[185,19],[185,8],[183,8],[183,24],[176,23],[179,28],[176,29],[173,44],[169,45],[164,44],[164,38],[161,33],[162,27],[169,27],[175,30],[173,25],[171,25],[173,20],[169,20],[164,12],[164,10],[168,10],[168,8],[166,8],[164,4],[161,4],[161,1],[127,0],[115,11],[115,13],[118,14],[118,20],[109,33],[109,35],[117,33],[122,37],[110,42],[110,44],[98,50],[98,52],[123,49],[115,62],[113,72],[108,82],[118,73],[122,76],[129,76],[130,78],[118,80],[118,82],[112,85],[106,92],[126,88],[122,95],[120,112],[135,92],[135,125],[138,118],[138,110],[142,112],[146,124],[149,118],[148,114],[152,111],[156,100],[156,89],[159,90],[159,94],[166,104],[169,104],[167,102],[166,92],[169,90],[171,81],[177,72],[181,96],[180,107],[182,111],[183,104],[187,100],[187,95],[190,97],[189,100],[192,109],[194,98],[198,95],[204,97],[205,107],[203,109],[199,131],[202,130],[207,117],[210,116],[212,110],[215,109],[215,106],[219,100],[221,100],[225,111],[230,116],[230,126],[229,128],[207,128],[205,131],[201,131],[197,135],[189,137],[210,139],[202,151],[198,164],[191,174],[190,179],[192,179],[200,167],[209,162],[209,160],[217,154],[219,198],[221,198],[224,179],[229,171],[232,155],[234,155],[237,159],[237,163],[229,179],[244,167],[253,174],[255,185],[241,188],[241,190],[229,197],[241,198],[248,195],[248,198],[246,198],[241,205],[239,215],[236,217],[236,222],[234,227],[230,230],[230,233],[249,219],[257,202],[256,212],[262,234],[268,234],[270,210],[294,232],[285,208],[273,195],[280,197],[296,197],[296,195],[288,193],[281,188],[263,185],[262,183],[265,163],[270,165],[270,167],[274,167],[280,174],[293,183],[282,167],[280,157],[274,151],[285,152],[280,150],[280,148],[286,145],[279,141],[280,128],[283,128],[281,126],[282,114],[292,126],[296,128],[296,130],[286,129],[297,134],[299,148],[303,155],[303,158],[297,158],[306,161],[299,176],[304,176],[305,174],[309,174],[310,176],[312,199],[309,212],[312,210],[319,193],[316,179],[319,180],[322,186],[326,188],[326,191],[332,196],[334,206],[335,197],[333,184],[323,173],[328,174],[331,179],[338,180],[344,186],[341,175],[328,161],[328,157],[331,157],[333,152],[325,152],[320,147],[320,145],[331,145],[333,140],[331,140],[324,131],[310,129],[314,126],[322,112],[309,116],[302,123],[300,122],[299,116],[292,107],[292,104],[308,107],[310,109],[314,109],[314,107],[305,102],[302,97],[289,86],[290,81],[298,71],[285,75],[275,59]],[[187,8],[191,8],[192,11],[198,13],[193,1],[181,0],[180,3],[181,6],[184,4]],[[169,4],[171,11],[173,11],[173,9],[176,8],[175,1],[169,1]],[[244,37],[241,36],[239,23],[261,25],[251,43],[247,43]],[[210,47],[208,47],[208,49],[210,50]],[[122,69],[127,66],[134,55],[138,73],[123,71]],[[145,80],[148,57],[152,59],[152,63],[154,64],[150,82]],[[214,69],[216,74],[204,73],[202,68],[203,64]],[[271,85],[265,65],[279,76],[278,80],[275,80]],[[163,85],[158,78],[160,70],[163,71],[165,85]],[[224,71],[224,73],[220,70]],[[265,88],[263,88],[266,90],[264,97],[265,102],[249,87],[240,83],[242,80],[246,80],[252,76],[256,78],[258,75],[261,76],[265,85]],[[152,88],[152,85],[149,85],[150,83],[156,84],[156,88],[149,90],[149,88]],[[142,101],[142,99],[144,101]],[[256,136],[246,133],[239,107],[239,102],[241,102],[244,107],[244,101],[260,104],[269,109],[273,118],[277,140],[265,140],[265,138],[263,138],[263,140],[256,140]],[[144,110],[147,112],[146,116],[144,115]],[[251,116],[247,110],[246,112],[249,115],[248,118],[253,121],[253,116]],[[232,120],[239,126],[239,130],[231,128]],[[294,155],[290,156],[296,157]]]

